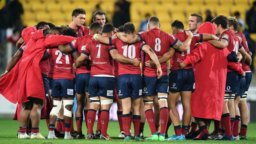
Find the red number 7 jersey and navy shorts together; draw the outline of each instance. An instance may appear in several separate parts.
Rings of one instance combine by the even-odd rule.
[[[93,40],[85,46],[85,50],[82,52],[87,57],[90,56],[92,61],[89,98],[95,96],[114,98],[115,68],[114,60],[109,53],[113,49],[116,47]]]

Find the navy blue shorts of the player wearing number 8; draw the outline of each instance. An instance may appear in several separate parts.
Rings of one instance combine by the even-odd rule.
[[[142,76],[143,80],[143,95],[156,96],[157,93],[168,94],[168,76],[161,76],[160,79],[157,77]]]

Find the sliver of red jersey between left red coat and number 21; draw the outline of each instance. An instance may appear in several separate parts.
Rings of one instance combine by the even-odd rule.
[[[46,59],[45,61],[40,61],[40,63],[39,63],[39,66],[41,68],[41,73],[45,74],[46,76],[49,75],[50,68],[51,68],[52,59],[49,58],[51,52],[52,52],[52,49],[47,49],[45,51],[45,54],[48,56],[48,59]]]

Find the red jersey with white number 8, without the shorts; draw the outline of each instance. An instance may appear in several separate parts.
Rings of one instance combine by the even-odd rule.
[[[145,41],[152,50],[156,53],[156,56],[159,58],[163,54],[169,51],[170,47],[173,47],[178,39],[176,39],[173,35],[165,33],[164,31],[159,30],[158,28],[154,28],[150,31],[139,32],[138,34],[141,37],[141,41]],[[149,55],[146,54],[145,62],[151,60]],[[163,76],[167,75],[167,63],[161,63],[161,68],[163,71]],[[156,73],[157,67],[149,68],[143,66],[143,74],[145,76],[157,77]]]

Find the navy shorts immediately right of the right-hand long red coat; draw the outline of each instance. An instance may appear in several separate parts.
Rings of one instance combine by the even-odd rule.
[[[236,94],[236,89],[240,87],[240,84],[239,86],[237,85],[239,78],[241,76],[236,72],[227,72],[225,94]]]

